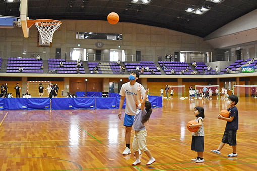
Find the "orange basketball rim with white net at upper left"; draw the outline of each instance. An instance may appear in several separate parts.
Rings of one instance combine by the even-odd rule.
[[[37,30],[41,36],[42,44],[50,44],[52,43],[53,33],[60,27],[62,22],[51,19],[27,20],[28,28],[30,28],[33,24],[35,24],[37,27]]]

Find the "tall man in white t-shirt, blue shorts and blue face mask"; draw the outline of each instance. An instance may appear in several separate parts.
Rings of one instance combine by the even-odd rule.
[[[129,155],[131,153],[131,150],[130,150],[131,128],[134,121],[135,111],[137,109],[136,101],[137,101],[138,85],[141,85],[140,83],[136,82],[138,78],[139,78],[139,72],[137,70],[132,70],[129,75],[130,82],[123,84],[119,92],[121,96],[120,103],[119,103],[119,114],[118,114],[119,119],[121,119],[121,116],[122,116],[121,110],[124,104],[124,100],[126,98],[125,117],[124,117],[124,124],[123,124],[126,127],[126,134],[125,134],[126,148],[122,153],[123,155]],[[141,95],[145,94],[145,88],[143,86],[141,88],[140,94]]]

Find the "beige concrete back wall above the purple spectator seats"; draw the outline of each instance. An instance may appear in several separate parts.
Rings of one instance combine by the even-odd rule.
[[[122,33],[122,41],[76,39],[76,32]],[[55,49],[61,48],[61,58],[70,59],[71,48],[86,48],[94,50],[124,49],[126,55],[135,55],[141,51],[141,56],[156,60],[157,56],[166,53],[184,51],[212,51],[212,47],[203,38],[169,29],[141,24],[119,22],[110,25],[107,21],[94,20],[62,20],[62,25],[53,35],[52,47],[38,47],[38,31],[35,26],[29,29],[29,38],[24,38],[21,28],[0,29],[0,56],[34,57],[40,54],[43,59],[55,58]],[[102,42],[104,46],[97,48],[95,43]],[[26,52],[24,55],[23,52]]]

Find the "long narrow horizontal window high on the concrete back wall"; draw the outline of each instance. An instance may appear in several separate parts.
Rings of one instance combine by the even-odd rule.
[[[76,39],[122,40],[120,33],[76,32]]]

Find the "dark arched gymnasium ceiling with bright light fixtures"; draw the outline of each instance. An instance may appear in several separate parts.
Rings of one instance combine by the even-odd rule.
[[[19,0],[0,0],[0,15],[20,16]],[[28,0],[30,19],[106,20],[116,12],[121,22],[163,27],[205,37],[225,24],[255,10],[257,0],[150,0],[147,5],[132,0]],[[141,0],[143,1],[143,0]],[[149,0],[146,0],[149,1]],[[199,15],[186,12],[191,8],[209,8]]]

